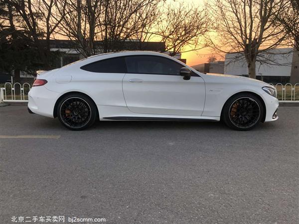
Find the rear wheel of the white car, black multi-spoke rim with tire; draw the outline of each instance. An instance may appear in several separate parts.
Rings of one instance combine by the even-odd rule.
[[[60,122],[70,130],[83,130],[91,126],[97,118],[94,102],[83,94],[69,94],[57,105]]]

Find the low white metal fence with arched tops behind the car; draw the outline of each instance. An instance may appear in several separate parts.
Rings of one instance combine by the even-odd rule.
[[[276,88],[276,98],[281,102],[299,102],[299,83],[292,85],[287,83],[283,85],[278,83],[273,85]],[[0,88],[0,102],[28,102],[28,92],[31,89],[29,83],[5,83],[4,87]],[[18,94],[15,94],[18,92]]]

